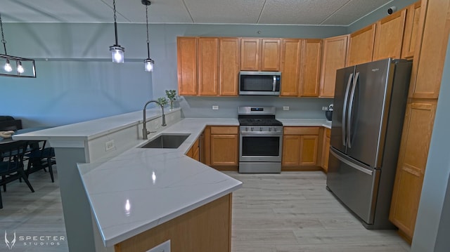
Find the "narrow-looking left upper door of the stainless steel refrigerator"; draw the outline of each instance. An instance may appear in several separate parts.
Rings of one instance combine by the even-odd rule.
[[[345,152],[347,150],[346,117],[348,112],[349,92],[354,79],[354,67],[346,67],[336,71],[335,99],[333,102],[333,124],[331,127],[330,145]]]

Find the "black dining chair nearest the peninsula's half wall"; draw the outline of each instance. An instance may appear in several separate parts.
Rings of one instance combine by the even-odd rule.
[[[25,175],[30,175],[35,171],[44,170],[49,168],[51,182],[55,182],[53,178],[53,164],[56,164],[55,150],[53,147],[46,147],[45,140],[43,141],[33,141],[30,142],[30,151],[25,154],[28,158],[27,170],[25,170]],[[42,147],[40,147],[40,143]]]

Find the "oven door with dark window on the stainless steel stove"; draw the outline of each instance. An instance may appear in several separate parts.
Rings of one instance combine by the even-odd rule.
[[[240,162],[281,162],[283,132],[240,131]]]

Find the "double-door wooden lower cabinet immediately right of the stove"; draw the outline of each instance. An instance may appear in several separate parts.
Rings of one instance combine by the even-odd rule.
[[[284,127],[282,171],[319,170],[319,127]]]

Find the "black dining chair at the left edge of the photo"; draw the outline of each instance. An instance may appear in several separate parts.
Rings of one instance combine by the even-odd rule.
[[[27,141],[15,141],[0,144],[0,185],[6,185],[14,180],[23,179],[31,192],[34,192],[34,189],[23,170],[23,157],[27,146]],[[6,187],[4,187],[4,189],[6,190]],[[3,208],[1,190],[0,208]]]

